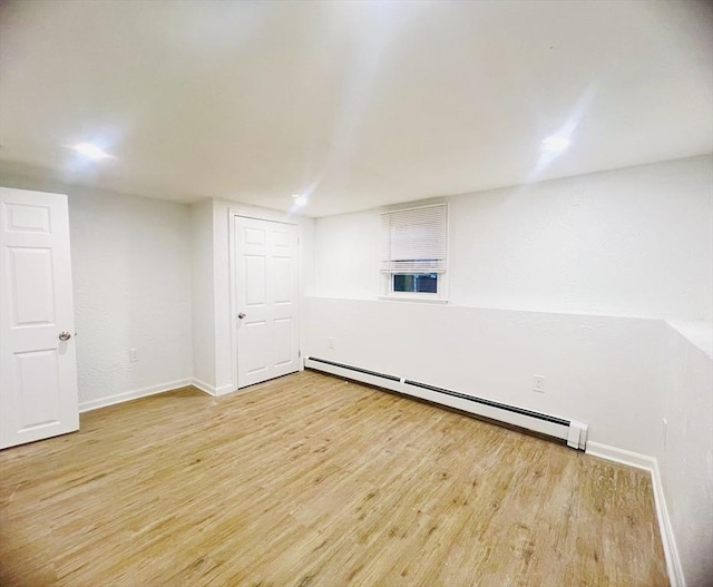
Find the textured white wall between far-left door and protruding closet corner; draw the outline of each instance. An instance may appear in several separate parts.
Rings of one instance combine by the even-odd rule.
[[[189,378],[188,206],[66,192],[80,403]]]

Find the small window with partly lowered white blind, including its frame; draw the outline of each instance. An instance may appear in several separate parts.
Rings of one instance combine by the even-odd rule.
[[[381,214],[384,294],[410,300],[446,297],[448,205]]]

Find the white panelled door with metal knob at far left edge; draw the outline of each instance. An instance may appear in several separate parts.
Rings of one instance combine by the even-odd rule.
[[[67,196],[0,188],[0,448],[79,429]]]

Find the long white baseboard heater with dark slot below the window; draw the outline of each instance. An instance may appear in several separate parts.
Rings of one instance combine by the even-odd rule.
[[[574,449],[585,450],[587,443],[587,424],[576,420],[567,420],[546,413],[526,410],[517,405],[508,405],[486,398],[467,395],[458,391],[421,383],[411,379],[370,371],[360,366],[336,363],[325,359],[307,356],[304,360],[306,369],[323,371],[333,375],[340,375],[362,383],[369,383],[407,395],[421,398],[433,403],[440,403],[457,410],[470,412],[476,415],[498,420],[512,425],[533,430],[541,434],[559,438],[567,441],[567,446]]]

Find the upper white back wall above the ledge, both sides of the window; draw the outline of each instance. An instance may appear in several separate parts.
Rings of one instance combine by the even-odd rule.
[[[713,156],[449,198],[453,304],[713,320]],[[315,290],[373,299],[378,211],[320,218]]]

